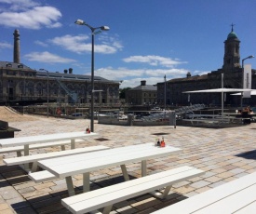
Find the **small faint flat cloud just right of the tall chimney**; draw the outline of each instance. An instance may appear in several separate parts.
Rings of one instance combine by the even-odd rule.
[[[47,51],[32,52],[30,54],[26,54],[24,58],[30,61],[40,61],[40,62],[46,62],[46,63],[70,63],[70,62],[76,61],[68,58],[61,58],[60,56],[49,53]]]

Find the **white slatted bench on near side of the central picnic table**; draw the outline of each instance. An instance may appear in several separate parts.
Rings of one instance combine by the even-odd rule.
[[[72,213],[87,213],[104,207],[102,213],[108,214],[115,203],[141,194],[147,194],[163,187],[166,188],[164,193],[160,194],[160,197],[166,198],[174,183],[186,181],[203,174],[204,171],[195,167],[178,167],[61,199],[61,204]]]

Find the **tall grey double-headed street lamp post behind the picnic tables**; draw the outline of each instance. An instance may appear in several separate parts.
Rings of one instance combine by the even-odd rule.
[[[90,107],[90,130],[94,132],[94,35],[101,33],[101,31],[109,31],[108,26],[101,26],[101,27],[92,27],[88,23],[86,23],[84,20],[75,20],[75,24],[78,25],[86,25],[91,31],[91,107]],[[100,30],[95,32],[96,30]]]

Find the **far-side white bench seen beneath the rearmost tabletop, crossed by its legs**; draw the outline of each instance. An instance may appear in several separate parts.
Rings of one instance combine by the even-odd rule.
[[[84,142],[85,140],[77,139],[75,142]],[[60,145],[68,145],[71,144],[71,140],[62,140],[56,142],[45,142],[45,143],[38,143],[38,144],[31,144],[29,147],[30,149],[41,149],[51,146],[60,146]],[[0,149],[0,154],[11,153],[11,152],[20,152],[24,150],[24,146],[12,146],[12,147],[5,147]]]

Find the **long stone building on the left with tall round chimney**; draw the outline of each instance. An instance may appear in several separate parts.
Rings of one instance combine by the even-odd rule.
[[[14,32],[14,60],[0,61],[0,102],[74,102],[89,103],[91,76],[73,74],[73,69],[63,73],[36,71],[20,63],[20,33]],[[95,103],[118,103],[119,82],[94,76]],[[47,94],[48,90],[48,94]]]

